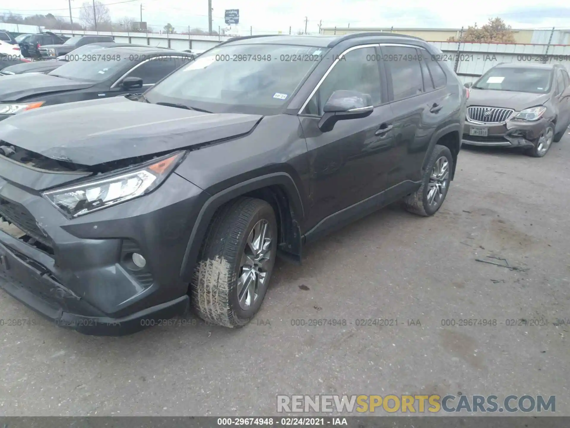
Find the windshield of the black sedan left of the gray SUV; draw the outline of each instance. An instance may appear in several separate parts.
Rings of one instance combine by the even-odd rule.
[[[71,80],[103,82],[115,74],[117,70],[135,63],[129,60],[128,56],[117,54],[114,50],[109,53],[107,49],[93,50],[87,58],[88,60],[70,60],[48,74]]]

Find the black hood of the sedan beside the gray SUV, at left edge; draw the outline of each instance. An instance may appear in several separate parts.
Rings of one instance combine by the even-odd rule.
[[[78,82],[48,74],[14,74],[0,79],[0,103],[18,101],[28,96],[48,92],[71,91],[93,86],[91,82]]]

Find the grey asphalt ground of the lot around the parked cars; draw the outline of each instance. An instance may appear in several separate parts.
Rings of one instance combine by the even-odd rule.
[[[465,149],[434,217],[390,206],[302,267],[278,261],[243,329],[82,336],[0,292],[0,318],[30,320],[0,326],[0,415],[273,415],[276,394],[390,393],[556,395],[570,415],[568,132],[542,159]]]

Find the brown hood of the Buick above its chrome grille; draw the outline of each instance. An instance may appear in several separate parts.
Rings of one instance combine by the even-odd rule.
[[[502,107],[521,111],[525,108],[540,106],[547,102],[549,98],[550,94],[471,88],[467,106]]]

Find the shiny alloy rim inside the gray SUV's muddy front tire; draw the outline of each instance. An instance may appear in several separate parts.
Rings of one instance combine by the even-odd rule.
[[[267,286],[268,269],[271,268],[271,229],[265,219],[255,223],[243,250],[238,278],[238,301],[243,310],[250,309],[260,291]]]

